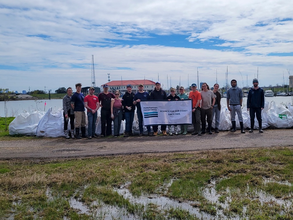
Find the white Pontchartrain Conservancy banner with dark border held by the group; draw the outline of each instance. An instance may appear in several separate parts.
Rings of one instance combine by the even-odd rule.
[[[192,124],[192,100],[140,102],[144,126]]]

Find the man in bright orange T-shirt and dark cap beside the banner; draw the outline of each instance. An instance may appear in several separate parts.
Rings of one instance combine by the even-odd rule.
[[[192,135],[197,134],[198,136],[201,135],[200,133],[200,101],[201,95],[200,92],[196,90],[197,86],[195,83],[191,84],[192,91],[189,93],[189,99],[192,99],[192,123],[194,132],[191,133]]]

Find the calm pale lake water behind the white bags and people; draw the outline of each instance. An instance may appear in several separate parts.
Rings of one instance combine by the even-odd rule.
[[[268,102],[275,101],[276,104],[292,104],[292,96],[277,96],[277,97],[265,97]],[[243,98],[243,105],[246,105],[247,98]],[[46,106],[45,106],[46,102]],[[226,104],[226,98],[222,98],[222,103]],[[34,109],[40,111],[47,111],[50,107],[56,109],[62,109],[62,99],[42,99],[42,100],[19,100],[8,101],[6,103],[8,116],[17,116],[23,112],[33,111]],[[0,117],[5,116],[4,101],[0,101]]]

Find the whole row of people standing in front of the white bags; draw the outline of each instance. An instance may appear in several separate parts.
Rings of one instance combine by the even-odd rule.
[[[125,132],[124,137],[134,136],[132,132],[132,124],[134,121],[134,112],[137,108],[137,118],[139,121],[139,136],[143,136],[144,123],[143,115],[141,111],[140,102],[143,100],[168,100],[177,101],[184,99],[192,99],[192,123],[194,132],[192,135],[201,136],[207,132],[212,134],[212,121],[215,117],[215,133],[219,133],[219,122],[221,114],[221,94],[218,91],[219,84],[214,84],[214,89],[210,90],[209,85],[202,83],[201,92],[197,90],[197,85],[193,83],[191,85],[192,91],[189,96],[185,93],[184,87],[179,88],[179,94],[176,95],[176,89],[171,88],[171,94],[167,96],[166,92],[161,88],[159,81],[155,84],[155,89],[148,92],[144,91],[144,85],[139,84],[139,91],[134,94],[132,92],[132,85],[127,85],[127,92],[120,99],[120,91],[116,90],[115,93],[108,92],[108,84],[103,85],[103,92],[98,97],[94,95],[95,88],[89,88],[89,94],[84,97],[81,93],[81,83],[75,85],[76,92],[72,95],[72,88],[67,89],[67,95],[63,98],[63,115],[64,115],[64,133],[66,138],[74,138],[74,129],[76,138],[86,138],[86,116],[85,108],[87,109],[88,116],[88,139],[96,138],[96,120],[97,111],[101,107],[101,137],[112,135],[112,121],[114,123],[114,137],[120,136],[121,121],[125,120]],[[231,80],[231,87],[226,91],[227,94],[227,107],[231,112],[231,132],[236,131],[236,114],[238,116],[241,133],[245,133],[242,117],[242,101],[243,92],[242,89],[237,86],[236,79]],[[264,108],[264,91],[258,87],[258,79],[253,79],[253,87],[248,92],[247,98],[247,110],[250,112],[251,129],[249,132],[253,132],[255,123],[255,115],[259,124],[259,132],[262,133],[262,118],[261,111]],[[68,133],[68,119],[70,119],[71,133]],[[75,120],[75,125],[74,125]],[[158,135],[158,125],[152,126],[153,133],[151,133],[151,127],[147,127],[148,136]],[[166,125],[161,125],[161,131],[163,136],[167,135]],[[79,134],[81,129],[81,136]],[[172,136],[172,126],[168,126],[169,135]],[[174,125],[174,134],[179,135],[187,134],[187,124],[181,124],[180,132],[177,132],[177,125]]]

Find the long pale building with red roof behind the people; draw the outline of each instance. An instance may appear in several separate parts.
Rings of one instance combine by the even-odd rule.
[[[155,89],[156,82],[153,82],[148,79],[141,79],[141,80],[114,80],[111,82],[106,82],[104,84],[108,84],[109,90],[112,90],[111,92],[115,92],[115,90],[119,90],[121,94],[124,94],[127,91],[126,86],[128,84],[132,85],[132,92],[137,93],[138,92],[138,85],[143,84],[144,85],[144,91],[151,92]],[[103,85],[101,85],[103,89]],[[101,91],[103,91],[101,89]],[[109,91],[110,92],[110,91]]]

